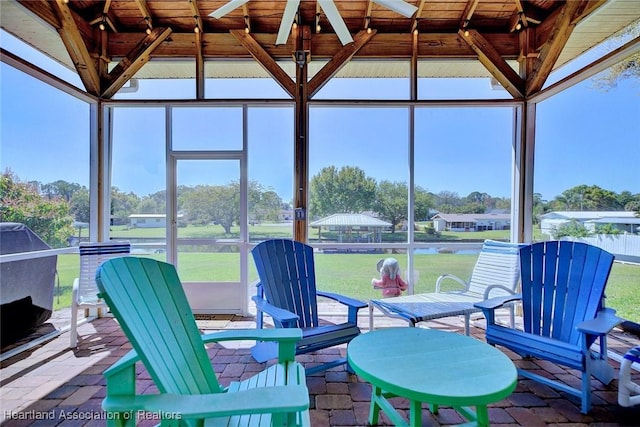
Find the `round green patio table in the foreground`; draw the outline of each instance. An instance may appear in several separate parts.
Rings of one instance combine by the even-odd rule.
[[[501,351],[475,338],[434,329],[360,334],[349,343],[347,358],[355,373],[371,383],[372,425],[382,409],[397,426],[420,426],[424,402],[433,413],[438,405],[450,406],[475,425],[488,426],[487,404],[509,396],[518,380],[513,362]],[[389,397],[409,399],[409,423]]]

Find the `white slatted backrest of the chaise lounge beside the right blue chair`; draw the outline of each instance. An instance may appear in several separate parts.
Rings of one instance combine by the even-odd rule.
[[[519,249],[523,244],[485,240],[469,279],[469,293],[484,295],[491,285],[515,291],[520,279]],[[496,292],[491,296],[500,295]]]

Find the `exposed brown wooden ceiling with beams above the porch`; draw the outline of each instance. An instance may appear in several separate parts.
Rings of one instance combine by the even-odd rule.
[[[87,92],[107,99],[148,61],[185,58],[195,59],[199,98],[209,60],[253,58],[296,98],[276,61],[328,61],[310,97],[352,58],[469,58],[521,99],[542,88],[575,26],[605,0],[406,2],[417,7],[408,18],[372,0],[334,0],[354,39],[343,46],[318,2],[301,0],[297,28],[276,46],[284,0],[250,0],[220,19],[209,14],[227,0],[18,0],[57,30]]]

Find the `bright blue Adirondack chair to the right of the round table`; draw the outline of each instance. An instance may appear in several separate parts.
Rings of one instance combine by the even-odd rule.
[[[585,243],[550,241],[520,249],[523,330],[495,323],[494,310],[515,297],[492,298],[475,306],[487,319],[486,339],[523,357],[548,360],[582,373],[580,389],[526,369],[525,378],[581,398],[581,410],[591,408],[591,376],[608,384],[613,368],[607,363],[606,336],[622,321],[604,308],[604,289],[613,255]],[[599,351],[591,349],[599,340]]]

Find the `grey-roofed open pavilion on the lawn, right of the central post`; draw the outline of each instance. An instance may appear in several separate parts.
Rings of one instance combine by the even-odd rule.
[[[391,223],[365,214],[333,214],[313,221],[309,226],[318,229],[318,240],[322,240],[324,229],[337,231],[338,243],[375,243],[382,241],[382,230],[390,228]]]

